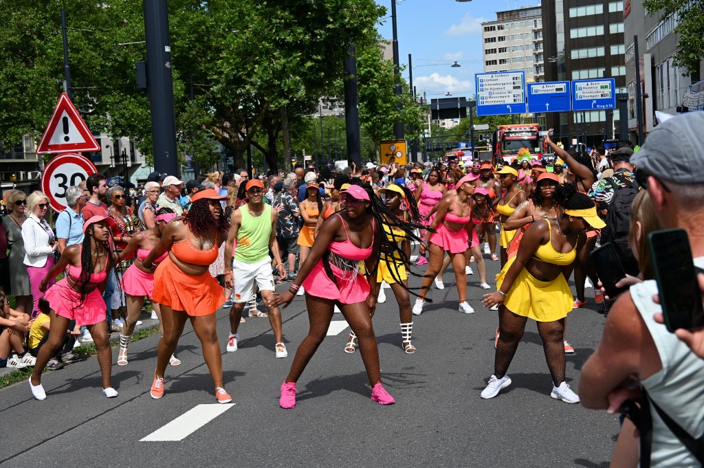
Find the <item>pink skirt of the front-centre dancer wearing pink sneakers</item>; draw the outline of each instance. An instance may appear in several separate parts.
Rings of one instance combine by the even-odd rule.
[[[335,265],[330,265],[337,285],[325,273],[322,260],[318,260],[308,277],[303,281],[306,294],[324,299],[332,299],[341,304],[355,304],[366,301],[369,296],[369,283],[363,274],[346,273]]]

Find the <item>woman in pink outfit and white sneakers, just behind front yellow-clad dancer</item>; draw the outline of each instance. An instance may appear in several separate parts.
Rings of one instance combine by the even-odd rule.
[[[467,303],[467,277],[465,267],[467,259],[465,251],[470,248],[469,238],[472,228],[471,211],[472,195],[474,195],[474,183],[477,177],[465,175],[457,182],[457,194],[448,195],[439,203],[435,217],[430,223],[430,229],[425,234],[420,244],[420,253],[429,253],[428,269],[423,275],[423,282],[420,295],[413,305],[413,314],[420,315],[423,312],[425,296],[430,289],[430,284],[440,271],[443,263],[445,251],[450,255],[455,278],[457,281],[457,291],[459,293],[460,312],[471,314],[474,312],[472,306]],[[435,231],[432,233],[432,231]],[[432,234],[432,235],[431,235]]]

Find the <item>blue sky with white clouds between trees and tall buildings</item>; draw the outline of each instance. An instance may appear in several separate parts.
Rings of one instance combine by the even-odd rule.
[[[393,37],[391,0],[375,0],[385,6],[387,17],[377,29],[384,39]],[[398,0],[396,25],[401,64],[413,56],[413,85],[427,99],[474,95],[474,73],[482,72],[482,22],[496,20],[496,11],[536,6],[539,0]],[[451,68],[458,61],[460,68]],[[403,72],[408,81],[408,70]]]

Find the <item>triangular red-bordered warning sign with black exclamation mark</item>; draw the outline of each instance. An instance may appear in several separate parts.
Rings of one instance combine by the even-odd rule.
[[[49,125],[46,125],[39,141],[37,154],[99,150],[100,145],[73,106],[68,94],[62,93]]]

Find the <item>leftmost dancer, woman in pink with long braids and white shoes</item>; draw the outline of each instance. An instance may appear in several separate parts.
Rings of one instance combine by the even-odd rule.
[[[63,346],[63,338],[71,320],[75,320],[77,326],[85,325],[88,328],[98,348],[103,394],[108,398],[118,396],[110,381],[112,351],[105,302],[101,296],[108,274],[117,261],[108,247],[110,229],[114,222],[107,216],[93,216],[84,222],[82,244],[66,247],[58,263],[39,284],[39,289],[46,291],[46,285],[68,267],[68,274],[44,295],[44,299],[49,302],[51,322],[49,339],[39,350],[34,372],[30,376],[30,390],[37,400],[46,399],[42,371],[49,359],[56,355],[58,348]]]

